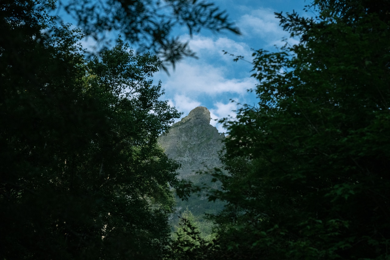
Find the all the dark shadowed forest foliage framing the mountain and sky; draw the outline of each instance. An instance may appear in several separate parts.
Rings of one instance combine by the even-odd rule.
[[[157,143],[181,113],[153,74],[195,55],[177,26],[239,28],[206,1],[0,1],[0,260],[389,259],[390,2],[306,8],[275,13],[298,43],[254,50],[258,103],[221,120],[222,210],[172,232],[206,188]]]

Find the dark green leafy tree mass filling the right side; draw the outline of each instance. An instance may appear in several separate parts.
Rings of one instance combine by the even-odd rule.
[[[225,258],[387,259],[389,4],[277,14],[300,43],[254,53],[256,107],[225,120]]]

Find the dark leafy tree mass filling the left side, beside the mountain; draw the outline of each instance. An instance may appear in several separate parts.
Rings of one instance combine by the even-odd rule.
[[[25,17],[1,24],[1,257],[161,257],[178,164],[156,139],[180,115],[153,85],[161,62],[121,40],[87,61],[79,29],[5,7]]]

